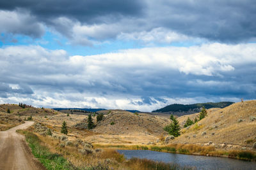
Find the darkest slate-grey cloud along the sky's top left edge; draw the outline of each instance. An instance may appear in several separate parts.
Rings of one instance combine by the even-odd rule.
[[[87,23],[97,23],[102,16],[118,18],[122,15],[136,16],[141,15],[143,8],[140,1],[68,1],[68,0],[47,0],[47,1],[1,1],[0,8],[4,10],[16,10],[22,8],[31,11],[33,15],[40,20],[48,20],[51,18],[68,17],[74,20]]]

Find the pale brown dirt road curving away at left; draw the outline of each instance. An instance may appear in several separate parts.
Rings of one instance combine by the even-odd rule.
[[[26,129],[34,122],[25,122],[7,131],[0,132],[0,169],[42,169],[35,160],[24,136],[16,132],[17,129]]]

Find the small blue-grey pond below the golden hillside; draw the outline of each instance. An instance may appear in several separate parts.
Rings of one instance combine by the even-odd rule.
[[[124,154],[126,159],[137,157],[167,163],[179,164],[180,166],[196,167],[196,169],[250,169],[256,170],[256,162],[229,159],[225,157],[207,157],[201,155],[183,155],[178,153],[164,153],[150,150],[117,150]]]

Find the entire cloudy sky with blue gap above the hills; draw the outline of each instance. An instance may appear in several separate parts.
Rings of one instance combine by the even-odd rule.
[[[0,103],[152,111],[256,99],[256,1],[0,1]]]

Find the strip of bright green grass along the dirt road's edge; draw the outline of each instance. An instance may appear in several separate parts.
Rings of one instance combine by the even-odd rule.
[[[38,136],[27,131],[24,131],[24,134],[33,155],[40,160],[46,169],[74,169],[74,167],[61,155],[51,153],[49,148],[42,146]]]

